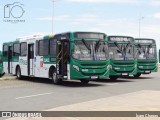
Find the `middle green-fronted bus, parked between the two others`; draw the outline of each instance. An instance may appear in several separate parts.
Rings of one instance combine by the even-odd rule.
[[[110,57],[110,78],[131,76],[137,73],[134,56],[134,38],[129,36],[108,36]]]

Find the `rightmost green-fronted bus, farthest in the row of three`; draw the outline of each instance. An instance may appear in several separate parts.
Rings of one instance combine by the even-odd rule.
[[[156,41],[148,38],[136,38],[135,47],[137,58],[137,74],[135,77],[140,77],[141,74],[157,72],[158,59]]]

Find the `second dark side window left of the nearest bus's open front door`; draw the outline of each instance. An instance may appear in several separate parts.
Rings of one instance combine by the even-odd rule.
[[[39,55],[48,55],[49,53],[49,41],[48,40],[40,40],[39,41]]]

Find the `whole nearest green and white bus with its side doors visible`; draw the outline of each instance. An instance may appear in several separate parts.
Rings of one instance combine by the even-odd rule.
[[[4,70],[17,78],[33,76],[61,80],[109,77],[106,34],[67,32],[31,36],[3,44]]]

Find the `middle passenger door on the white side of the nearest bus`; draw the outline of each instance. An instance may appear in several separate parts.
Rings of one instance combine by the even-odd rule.
[[[34,44],[28,44],[28,75],[34,75]]]

